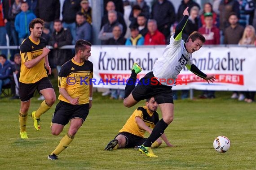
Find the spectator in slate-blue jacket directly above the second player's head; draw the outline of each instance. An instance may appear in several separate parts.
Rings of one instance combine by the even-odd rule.
[[[84,39],[90,42],[92,39],[92,26],[86,21],[84,14],[81,12],[76,13],[75,21],[75,41]]]

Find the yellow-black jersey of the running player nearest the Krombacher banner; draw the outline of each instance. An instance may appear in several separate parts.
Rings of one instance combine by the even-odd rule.
[[[58,77],[58,87],[65,88],[71,98],[79,97],[79,104],[89,103],[89,85],[93,78],[93,63],[77,63],[74,59],[62,65]],[[59,100],[70,103],[61,94]]]

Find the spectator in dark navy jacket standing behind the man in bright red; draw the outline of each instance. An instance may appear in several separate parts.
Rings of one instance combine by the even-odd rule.
[[[165,37],[168,37],[170,35],[170,27],[176,18],[173,4],[168,0],[158,0],[152,6],[151,18],[157,21],[159,31]]]

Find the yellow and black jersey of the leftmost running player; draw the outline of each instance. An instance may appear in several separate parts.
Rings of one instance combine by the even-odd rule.
[[[25,62],[31,59],[35,59],[43,53],[43,48],[46,46],[44,38],[40,38],[38,42],[35,42],[30,36],[26,38],[21,46],[20,53],[22,58],[20,82],[22,83],[35,83],[42,78],[47,77],[46,70],[44,68],[44,59],[32,68],[26,68]]]

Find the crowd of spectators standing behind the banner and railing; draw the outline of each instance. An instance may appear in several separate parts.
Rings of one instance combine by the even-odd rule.
[[[104,15],[98,37],[102,45],[164,45],[169,43],[183,11],[189,7],[190,16],[182,38],[199,31],[206,45],[256,45],[253,18],[255,0],[212,0],[201,6],[194,0],[181,0],[176,10],[169,0],[103,0]],[[57,77],[62,64],[72,56],[71,50],[60,50],[74,45],[78,39],[93,40],[92,8],[88,0],[0,0],[0,46],[18,46],[30,35],[28,24],[38,17],[45,21],[42,37],[53,47],[49,54]],[[177,11],[177,13],[175,12]],[[16,49],[0,51],[0,93],[2,86],[12,85],[13,98],[18,98],[20,55]],[[9,58],[9,59],[8,59]],[[103,95],[123,98],[124,91],[110,89]],[[231,98],[254,101],[255,92],[234,92]],[[174,98],[177,95],[174,95]],[[188,98],[188,91],[181,93]],[[215,98],[214,91],[203,91],[200,98]]]

